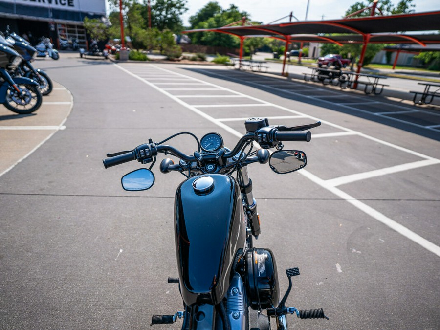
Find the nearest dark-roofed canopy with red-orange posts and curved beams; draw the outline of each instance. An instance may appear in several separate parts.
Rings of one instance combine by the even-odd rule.
[[[373,13],[373,12],[372,12]],[[434,31],[440,30],[440,11],[398,14],[389,16],[369,16],[360,18],[344,18],[327,21],[299,21],[270,25],[224,26],[211,29],[187,30],[191,32],[219,32],[240,38],[240,58],[242,43],[248,37],[272,37],[286,41],[286,50],[290,42],[333,42],[336,44],[362,43],[362,52],[358,64],[358,72],[362,67],[365,49],[368,43],[412,43],[425,46],[438,44],[438,35],[410,35],[398,33],[403,31]],[[338,34],[338,35],[333,35]]]

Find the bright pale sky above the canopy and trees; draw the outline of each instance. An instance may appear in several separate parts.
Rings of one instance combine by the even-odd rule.
[[[213,0],[215,1],[215,0]],[[195,15],[203,8],[209,0],[187,0],[189,10],[182,15],[183,24],[188,24],[190,16]],[[246,11],[250,14],[252,21],[270,23],[282,17],[285,17],[293,11],[293,15],[299,20],[306,18],[307,0],[217,0],[223,9],[229,8],[235,4],[240,11]],[[366,0],[309,0],[308,21],[320,21],[342,18],[348,8],[356,2],[367,2]],[[396,4],[398,0],[391,0]],[[439,0],[413,0],[416,12],[426,12],[440,10]],[[279,22],[286,22],[282,20]],[[292,19],[292,21],[295,21]],[[440,24],[439,24],[440,25]]]

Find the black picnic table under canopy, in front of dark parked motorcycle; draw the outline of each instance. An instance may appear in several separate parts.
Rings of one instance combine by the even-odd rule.
[[[308,66],[308,68],[311,69],[312,72],[303,73],[305,81],[321,82],[324,85],[331,84],[333,86],[340,86],[341,88],[352,89],[357,89],[359,85],[364,85],[365,94],[380,94],[384,86],[389,86],[379,82],[379,79],[387,79],[385,76],[314,66]]]

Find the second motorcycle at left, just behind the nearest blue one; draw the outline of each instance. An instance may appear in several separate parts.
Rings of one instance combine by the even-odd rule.
[[[31,62],[37,56],[37,50],[28,42],[25,42],[20,36],[9,31],[9,26],[4,33],[6,40],[13,44],[14,49],[22,56],[23,61],[15,69],[13,76],[26,77],[36,81],[40,87],[42,95],[48,95],[53,89],[52,80],[43,70],[36,69]]]

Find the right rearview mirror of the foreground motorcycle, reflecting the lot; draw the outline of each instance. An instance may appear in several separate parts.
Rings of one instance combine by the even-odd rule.
[[[306,164],[306,154],[299,150],[278,150],[269,158],[269,166],[277,174],[297,171],[305,167]]]

